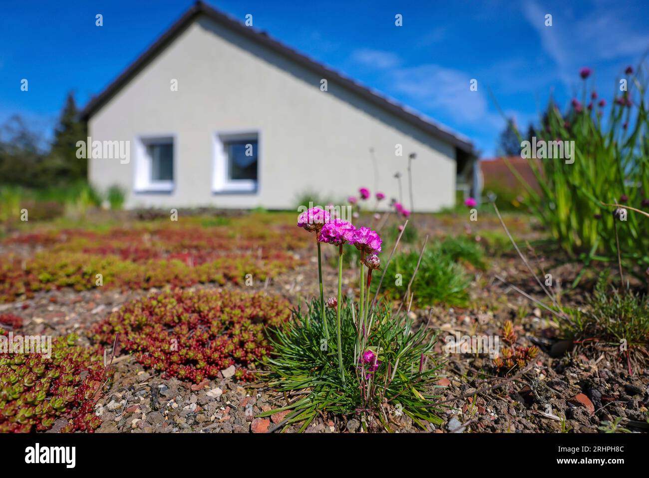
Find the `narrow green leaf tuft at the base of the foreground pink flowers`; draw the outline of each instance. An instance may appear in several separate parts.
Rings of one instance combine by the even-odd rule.
[[[367,349],[377,353],[380,364],[368,381],[361,375],[358,359],[355,359],[358,335],[352,307],[345,305],[341,309],[346,381],[343,388],[337,366],[336,340],[332,336],[324,347],[317,301],[312,301],[304,313],[294,310],[292,319],[284,327],[271,332],[273,352],[267,360],[273,373],[270,384],[287,392],[304,390],[308,393],[297,402],[262,416],[290,410],[282,426],[302,422],[300,431],[320,412],[360,414],[369,427],[383,427],[387,431],[391,431],[392,418],[400,412],[421,427],[425,427],[423,421],[441,423],[435,414],[439,410],[430,407],[436,397],[432,390],[439,370],[432,351],[435,338],[430,337],[424,327],[412,333],[412,323],[407,317],[393,318],[380,305],[372,314],[374,320]],[[326,320],[329,330],[334,331],[335,310],[327,309]],[[422,357],[427,357],[428,366],[420,373]]]

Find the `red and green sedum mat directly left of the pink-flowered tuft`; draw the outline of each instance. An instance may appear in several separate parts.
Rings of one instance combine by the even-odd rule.
[[[121,348],[165,376],[201,383],[234,365],[236,378],[250,380],[270,351],[263,327],[289,314],[286,301],[263,293],[177,289],[128,303],[91,333],[104,344],[119,334]]]

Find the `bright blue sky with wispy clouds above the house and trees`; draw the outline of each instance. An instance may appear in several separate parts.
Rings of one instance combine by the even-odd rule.
[[[22,1],[0,16],[0,123],[12,114],[51,135],[69,90],[80,106],[99,94],[193,2]],[[649,49],[646,1],[214,0],[210,5],[422,112],[495,153],[504,127],[538,118],[550,92],[562,105],[578,71],[603,97]],[[621,4],[621,5],[620,5]],[[104,26],[95,26],[101,13]],[[403,26],[395,26],[401,14]],[[552,27],[545,15],[552,15]],[[20,81],[29,80],[29,92]],[[478,91],[469,91],[471,79]],[[610,101],[609,101],[610,103]]]

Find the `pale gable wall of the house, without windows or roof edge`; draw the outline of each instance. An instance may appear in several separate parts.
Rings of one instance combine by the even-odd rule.
[[[172,79],[178,91],[171,91]],[[93,158],[92,184],[118,184],[132,207],[291,208],[315,190],[332,198],[374,193],[398,197],[402,173],[408,200],[408,154],[413,162],[415,210],[434,211],[455,201],[455,151],[371,103],[295,66],[230,30],[202,18],[188,27],[90,118],[92,140],[130,141],[130,162]],[[254,194],[214,194],[214,134],[259,131],[259,187]],[[141,136],[175,138],[175,186],[164,194],[134,192],[136,142]],[[403,156],[395,156],[395,145]],[[387,201],[386,201],[387,202]]]

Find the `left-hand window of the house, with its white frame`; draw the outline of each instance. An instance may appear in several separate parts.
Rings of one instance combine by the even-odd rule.
[[[173,138],[140,138],[136,142],[136,191],[171,192],[174,184],[173,157]]]

